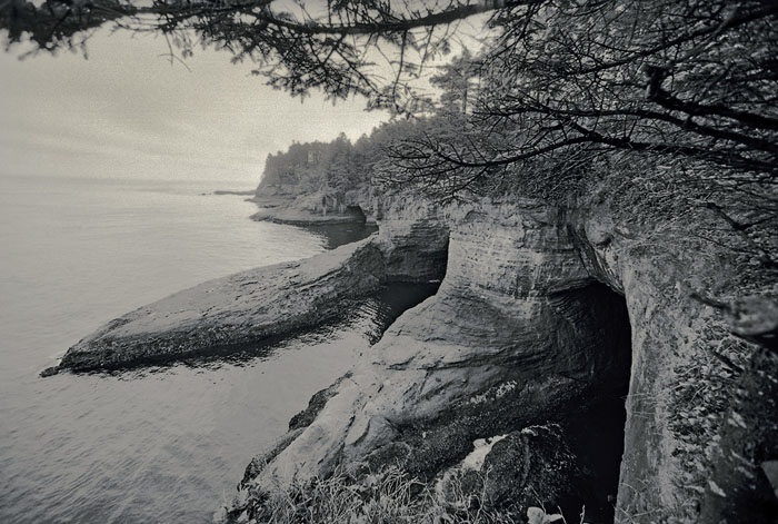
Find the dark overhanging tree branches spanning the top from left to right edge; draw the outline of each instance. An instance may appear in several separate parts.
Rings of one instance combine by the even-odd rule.
[[[450,49],[452,24],[480,12],[491,13],[491,39],[477,68],[466,53],[431,82],[449,88],[443,105],[467,112],[478,73],[473,112],[483,129],[510,134],[512,146],[458,147],[450,157],[429,144],[433,164],[499,167],[585,145],[775,178],[778,4],[770,0],[9,0],[0,28],[10,42],[29,34],[53,49],[112,20],[161,31],[184,56],[198,41],[230,50],[292,95],[359,92],[372,107],[412,111],[428,106],[411,80]]]

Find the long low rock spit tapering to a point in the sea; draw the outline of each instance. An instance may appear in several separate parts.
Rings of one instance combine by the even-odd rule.
[[[403,231],[405,225],[398,228]],[[391,230],[389,221],[381,237],[373,235],[305,260],[207,281],[143,306],[80,340],[59,366],[43,375],[229,352],[336,319],[352,306],[350,300],[375,294],[387,283],[439,281],[448,230],[431,219],[415,228],[419,235],[429,230],[423,257],[418,255],[415,236],[398,233],[387,241]],[[442,238],[432,238],[435,235]]]

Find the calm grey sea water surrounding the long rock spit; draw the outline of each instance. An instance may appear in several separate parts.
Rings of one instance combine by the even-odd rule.
[[[210,195],[245,186],[0,177],[0,522],[210,522],[248,461],[416,300],[366,300],[341,325],[239,358],[38,377],[130,309],[331,247]]]

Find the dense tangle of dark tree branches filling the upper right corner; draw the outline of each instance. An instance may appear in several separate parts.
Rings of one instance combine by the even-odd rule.
[[[500,33],[480,58],[471,122],[499,144],[452,154],[433,137],[416,140],[408,174],[481,177],[616,150],[775,182],[778,4],[559,0],[501,10],[491,23]]]

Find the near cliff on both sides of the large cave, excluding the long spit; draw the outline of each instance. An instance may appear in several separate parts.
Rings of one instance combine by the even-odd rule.
[[[731,392],[754,350],[690,297],[691,287],[737,291],[728,253],[689,234],[699,221],[630,217],[601,195],[446,209],[416,209],[409,199],[386,212],[407,220],[381,230],[385,246],[418,237],[413,228],[426,220],[450,231],[440,289],[402,315],[318,416],[247,475],[246,493],[339,465],[399,463],[436,482],[473,442],[538,424],[560,424],[560,446],[573,448],[580,435],[566,421],[586,421],[598,403],[627,394],[616,520],[699,520],[716,490],[709,474],[731,424]],[[413,256],[395,261],[390,247],[383,253],[395,271],[412,267]],[[575,454],[578,466],[590,458]]]

